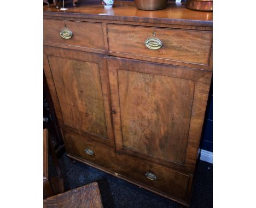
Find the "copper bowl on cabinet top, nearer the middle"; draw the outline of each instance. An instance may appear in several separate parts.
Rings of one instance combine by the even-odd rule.
[[[137,9],[160,10],[167,7],[168,0],[135,0]]]

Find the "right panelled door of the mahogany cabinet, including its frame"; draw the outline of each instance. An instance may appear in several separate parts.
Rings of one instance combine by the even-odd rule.
[[[116,151],[193,173],[212,72],[107,60]]]

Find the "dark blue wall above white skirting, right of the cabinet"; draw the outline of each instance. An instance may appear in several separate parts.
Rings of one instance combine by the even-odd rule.
[[[203,124],[202,130],[202,142],[201,142],[201,149],[211,151],[212,152],[212,124],[213,124],[213,117],[212,117],[212,85],[210,89],[208,104],[206,108],[206,115],[205,115],[205,122]]]

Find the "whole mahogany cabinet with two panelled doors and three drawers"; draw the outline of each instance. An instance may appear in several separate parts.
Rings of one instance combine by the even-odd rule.
[[[44,72],[68,156],[189,206],[212,13],[172,1],[68,8],[44,7]]]

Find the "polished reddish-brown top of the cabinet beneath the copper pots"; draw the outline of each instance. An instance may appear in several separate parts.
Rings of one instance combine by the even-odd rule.
[[[133,1],[115,1],[113,8],[104,9],[100,0],[80,0],[77,7],[72,6],[72,1],[66,1],[65,8],[56,9],[44,5],[44,17],[74,17],[110,21],[164,23],[171,25],[189,25],[212,27],[212,12],[194,11],[187,9],[184,2],[177,4],[170,1],[166,9],[156,11],[138,10]]]

